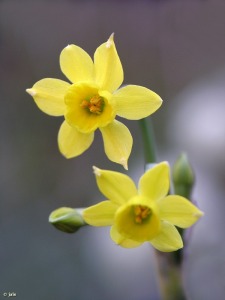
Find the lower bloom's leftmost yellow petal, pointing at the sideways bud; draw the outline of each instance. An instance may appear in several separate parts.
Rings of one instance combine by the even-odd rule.
[[[83,211],[86,223],[92,226],[109,226],[113,224],[114,215],[118,205],[111,201],[102,201]]]

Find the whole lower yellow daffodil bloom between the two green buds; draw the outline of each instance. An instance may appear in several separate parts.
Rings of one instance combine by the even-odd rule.
[[[108,198],[83,211],[86,223],[112,226],[116,244],[133,248],[144,242],[163,252],[183,247],[175,225],[192,226],[203,213],[189,200],[169,191],[169,165],[162,162],[139,180],[138,189],[125,174],[94,167],[97,185]]]

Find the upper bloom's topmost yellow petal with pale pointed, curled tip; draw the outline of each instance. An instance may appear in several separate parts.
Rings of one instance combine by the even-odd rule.
[[[101,89],[113,92],[122,84],[123,68],[113,41],[113,34],[95,51],[94,68],[95,81]]]

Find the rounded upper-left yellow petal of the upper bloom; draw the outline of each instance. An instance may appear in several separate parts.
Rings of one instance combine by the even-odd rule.
[[[68,45],[62,50],[60,67],[64,75],[73,83],[93,81],[93,61],[87,52],[76,45]]]

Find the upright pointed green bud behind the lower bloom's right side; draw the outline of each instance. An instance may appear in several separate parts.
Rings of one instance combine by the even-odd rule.
[[[185,153],[182,153],[176,160],[173,166],[172,177],[174,193],[190,199],[195,178],[194,171]]]

